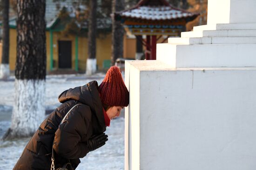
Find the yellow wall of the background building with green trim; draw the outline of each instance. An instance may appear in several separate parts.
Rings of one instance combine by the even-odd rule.
[[[16,29],[10,29],[10,55],[9,55],[9,64],[10,70],[15,69],[16,62]],[[72,42],[72,69],[75,69],[75,36],[64,37],[60,32],[53,33],[53,59],[54,59],[54,68],[58,68],[58,41],[59,40],[68,40]],[[161,38],[158,43],[162,42],[163,38]],[[166,43],[167,41],[165,41]],[[136,51],[136,39],[135,38],[127,38],[124,36],[124,49],[123,49],[123,57],[124,58],[134,58]],[[111,59],[111,34],[100,36],[96,40],[96,59],[98,69],[102,69],[102,64],[104,59]],[[50,32],[46,32],[46,47],[47,47],[47,71],[50,70]],[[1,55],[1,52],[0,52]],[[0,57],[1,58],[1,57]],[[78,38],[78,68],[80,71],[86,70],[86,61],[88,58],[88,38],[79,37]]]

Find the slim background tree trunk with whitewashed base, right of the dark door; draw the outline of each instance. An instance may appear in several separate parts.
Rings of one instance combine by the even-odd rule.
[[[96,72],[96,30],[97,30],[97,0],[89,0],[89,25],[88,25],[88,59],[86,74]]]

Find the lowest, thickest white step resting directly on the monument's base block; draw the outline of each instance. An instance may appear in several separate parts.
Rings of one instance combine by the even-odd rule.
[[[256,67],[256,44],[157,44],[156,59],[180,67]]]

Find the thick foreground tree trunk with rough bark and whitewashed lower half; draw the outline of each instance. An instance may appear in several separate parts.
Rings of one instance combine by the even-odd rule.
[[[4,139],[31,136],[45,117],[45,6],[45,0],[17,1],[15,104]]]

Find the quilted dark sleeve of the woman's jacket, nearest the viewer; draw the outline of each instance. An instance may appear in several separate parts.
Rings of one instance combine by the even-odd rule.
[[[90,107],[78,105],[67,115],[54,137],[54,151],[59,156],[75,159],[87,155],[88,148],[81,138],[88,132],[91,114]]]

